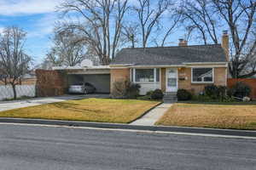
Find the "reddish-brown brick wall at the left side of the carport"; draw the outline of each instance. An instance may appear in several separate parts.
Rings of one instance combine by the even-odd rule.
[[[63,95],[67,91],[64,71],[37,70],[36,94],[38,97]]]

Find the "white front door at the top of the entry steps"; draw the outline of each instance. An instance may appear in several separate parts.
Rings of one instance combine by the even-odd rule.
[[[176,68],[166,68],[166,92],[177,92]]]

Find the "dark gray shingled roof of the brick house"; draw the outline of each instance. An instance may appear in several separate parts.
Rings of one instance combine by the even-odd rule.
[[[224,49],[217,45],[185,47],[123,48],[111,65],[182,65],[193,62],[226,62]]]

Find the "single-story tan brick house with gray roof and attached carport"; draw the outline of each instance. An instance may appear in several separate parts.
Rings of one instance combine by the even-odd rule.
[[[123,48],[107,66],[55,67],[67,71],[67,85],[90,82],[98,92],[111,93],[113,83],[131,81],[141,94],[160,88],[166,94],[188,89],[198,94],[209,84],[227,85],[229,37],[222,44],[193,45],[180,40],[177,47]]]

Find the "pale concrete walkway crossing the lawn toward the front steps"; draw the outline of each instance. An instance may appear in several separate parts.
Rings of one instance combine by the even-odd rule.
[[[163,116],[166,111],[172,106],[172,104],[163,103],[153,110],[149,111],[142,118],[138,119],[135,122],[131,122],[131,125],[143,125],[143,126],[154,126],[154,123],[157,122],[161,116]]]

